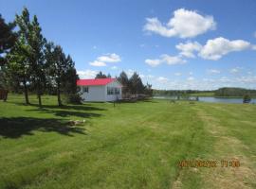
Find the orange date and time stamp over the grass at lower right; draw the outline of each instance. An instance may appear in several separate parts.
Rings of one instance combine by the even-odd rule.
[[[239,160],[183,160],[178,162],[178,166],[185,167],[239,167],[241,165]]]

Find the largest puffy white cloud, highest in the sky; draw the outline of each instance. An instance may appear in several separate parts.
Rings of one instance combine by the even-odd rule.
[[[164,37],[192,38],[213,30],[216,23],[212,16],[198,14],[194,10],[176,9],[174,17],[163,25],[157,18],[147,18],[144,30]]]

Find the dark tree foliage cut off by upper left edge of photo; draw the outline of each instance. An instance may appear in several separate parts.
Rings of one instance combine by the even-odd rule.
[[[14,27],[14,23],[6,24],[0,14],[0,66],[6,63],[4,56],[16,42],[16,34],[12,31]]]

